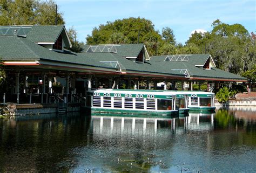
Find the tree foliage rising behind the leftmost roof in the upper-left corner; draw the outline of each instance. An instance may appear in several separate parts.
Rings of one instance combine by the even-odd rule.
[[[56,3],[52,0],[0,0],[0,25],[55,25]],[[57,13],[57,23],[64,24],[63,13]]]

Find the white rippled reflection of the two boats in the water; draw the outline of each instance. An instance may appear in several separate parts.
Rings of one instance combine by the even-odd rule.
[[[213,130],[215,113],[189,113],[172,117],[114,116],[97,114],[91,116],[93,134],[147,133],[154,136],[158,129],[169,128],[172,133],[184,130]]]

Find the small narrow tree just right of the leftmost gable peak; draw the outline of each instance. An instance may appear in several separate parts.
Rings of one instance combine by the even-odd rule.
[[[67,49],[73,52],[82,52],[84,43],[77,41],[77,31],[74,29],[73,26],[68,30],[68,34],[69,34],[72,47],[67,47]]]

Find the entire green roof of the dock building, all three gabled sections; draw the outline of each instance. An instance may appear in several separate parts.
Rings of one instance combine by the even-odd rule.
[[[64,52],[51,51],[33,43],[53,43],[63,32],[66,32],[63,25],[0,26],[0,57],[5,61],[45,60],[113,70],[121,68],[122,72],[160,74],[163,77],[173,75],[184,77],[184,79],[184,72],[188,72],[190,78],[203,80],[246,80],[246,78],[218,68],[205,70],[196,66],[204,65],[211,57],[210,54],[188,54],[186,59],[174,61],[165,61],[167,56],[153,56],[150,60],[140,63],[129,58],[137,57],[142,51],[145,52],[144,44],[117,44],[112,47],[111,45],[108,47],[99,45],[101,47],[98,50],[94,49],[95,46],[90,52],[86,52],[90,47],[86,45],[83,53],[74,53],[66,50]],[[93,50],[96,51],[93,52]]]

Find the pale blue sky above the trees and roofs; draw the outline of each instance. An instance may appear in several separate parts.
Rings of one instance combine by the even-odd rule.
[[[253,0],[55,0],[63,12],[65,27],[74,27],[77,39],[86,43],[93,27],[116,19],[149,19],[154,29],[170,27],[177,43],[185,44],[196,29],[212,30],[212,22],[239,23],[256,32],[256,1]]]

